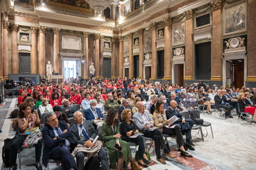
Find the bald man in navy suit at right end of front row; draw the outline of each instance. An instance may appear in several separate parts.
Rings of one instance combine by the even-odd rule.
[[[191,129],[194,126],[195,122],[191,119],[186,119],[184,118],[184,116],[182,116],[182,114],[179,113],[179,111],[177,111],[177,103],[176,101],[170,101],[170,106],[166,111],[166,116],[167,119],[173,117],[173,116],[177,116],[177,118],[179,118],[179,120],[176,120],[176,122],[174,122],[174,124],[177,124],[178,126],[180,126],[180,128],[182,129],[182,133],[186,133],[186,147],[189,150],[195,150],[195,148],[193,148],[194,143],[192,142],[192,137],[191,137]]]

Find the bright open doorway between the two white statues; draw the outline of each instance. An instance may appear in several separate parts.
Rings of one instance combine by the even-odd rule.
[[[81,75],[79,60],[64,60],[63,66],[65,80],[68,80],[69,78],[79,78],[79,76]]]

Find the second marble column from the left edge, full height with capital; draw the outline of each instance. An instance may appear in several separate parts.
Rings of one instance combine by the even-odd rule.
[[[12,73],[18,74],[18,25],[12,26]]]

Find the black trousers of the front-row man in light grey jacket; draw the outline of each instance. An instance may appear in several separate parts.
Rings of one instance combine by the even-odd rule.
[[[144,130],[143,134],[145,137],[152,137],[153,140],[155,141],[155,150],[156,150],[156,157],[160,158],[161,157],[161,153],[160,153],[160,148],[162,148],[162,150],[169,150],[166,146],[165,146],[165,139],[162,137],[162,133],[159,129],[156,129],[154,131],[147,131]]]

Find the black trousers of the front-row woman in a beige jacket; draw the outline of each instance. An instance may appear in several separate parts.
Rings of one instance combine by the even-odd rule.
[[[180,148],[181,146],[184,146],[184,139],[182,136],[182,129],[180,129],[180,126],[175,126],[173,129],[169,129],[164,127],[162,129],[162,134],[167,134],[167,135],[176,135],[177,137],[177,144],[178,144],[178,148]]]

